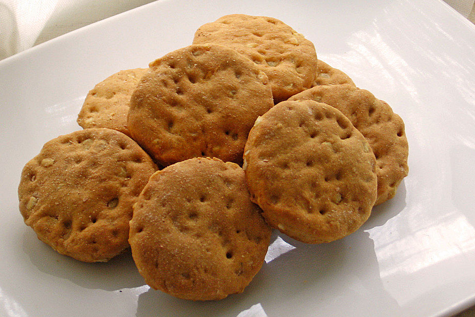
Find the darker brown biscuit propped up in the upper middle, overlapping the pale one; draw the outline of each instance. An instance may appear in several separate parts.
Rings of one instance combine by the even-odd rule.
[[[214,44],[191,45],[149,66],[131,98],[134,140],[164,166],[193,157],[242,162],[254,121],[274,106],[266,74]]]

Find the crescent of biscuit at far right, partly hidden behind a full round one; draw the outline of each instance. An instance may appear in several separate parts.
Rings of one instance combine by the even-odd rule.
[[[363,134],[373,150],[378,175],[379,205],[396,194],[407,176],[408,144],[404,122],[391,107],[367,90],[351,85],[318,86],[290,100],[315,100],[340,110]]]

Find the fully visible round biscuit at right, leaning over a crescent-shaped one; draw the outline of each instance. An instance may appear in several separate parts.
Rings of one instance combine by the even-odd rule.
[[[314,101],[285,101],[258,118],[243,168],[267,223],[306,243],[351,234],[376,201],[368,142],[340,111]]]

